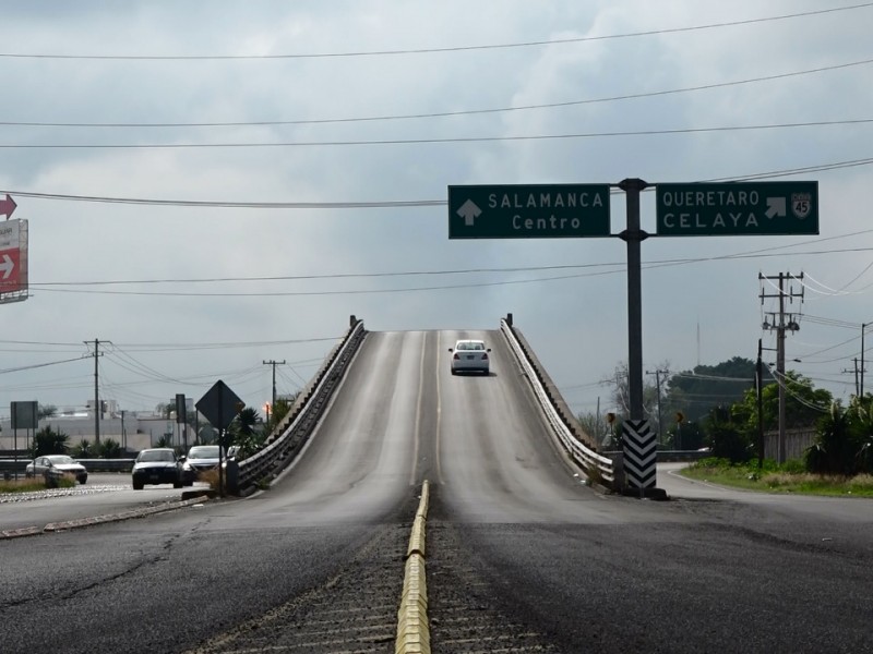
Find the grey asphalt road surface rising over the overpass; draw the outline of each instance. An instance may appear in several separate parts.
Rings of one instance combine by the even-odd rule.
[[[491,374],[449,373],[485,338]],[[369,334],[274,486],[0,541],[0,651],[393,652],[431,482],[434,652],[873,652],[873,502],[581,482],[499,332]]]

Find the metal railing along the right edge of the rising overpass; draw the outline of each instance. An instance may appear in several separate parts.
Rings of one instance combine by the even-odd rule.
[[[547,375],[541,370],[541,365],[537,361],[533,352],[523,344],[523,339],[516,335],[512,326],[512,316],[501,318],[500,329],[510,346],[510,349],[518,360],[518,364],[530,383],[534,395],[537,397],[542,412],[549,422],[554,434],[559,440],[566,448],[567,453],[573,460],[578,463],[588,474],[589,479],[597,480],[606,486],[617,488],[621,484],[620,474],[618,474],[617,465],[613,460],[595,450],[590,445],[586,445],[582,439],[582,434],[574,433],[575,429],[571,428],[567,424],[570,419],[567,412],[570,411],[564,404],[563,400],[555,398],[557,389],[551,388],[547,390]],[[548,384],[548,386],[552,386]],[[558,401],[555,401],[555,399]],[[561,404],[561,410],[555,405]],[[563,414],[563,415],[562,415]]]

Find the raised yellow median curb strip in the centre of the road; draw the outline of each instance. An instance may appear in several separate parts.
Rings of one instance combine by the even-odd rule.
[[[428,482],[421,487],[409,547],[406,553],[406,573],[400,608],[397,611],[396,654],[430,654],[428,627],[428,585],[424,574],[424,526],[428,516]]]

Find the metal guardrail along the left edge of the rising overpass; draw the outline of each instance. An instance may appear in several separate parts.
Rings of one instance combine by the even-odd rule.
[[[288,419],[283,423],[287,427],[278,434],[274,433],[263,449],[239,461],[236,492],[250,489],[259,480],[277,473],[290,463],[309,439],[366,334],[363,320],[357,320],[352,316],[348,334],[334,348],[313,382],[291,408]]]

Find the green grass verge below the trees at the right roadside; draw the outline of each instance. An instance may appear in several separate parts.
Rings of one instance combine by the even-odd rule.
[[[799,462],[777,465],[766,461],[764,468],[758,469],[756,462],[731,465],[721,459],[704,459],[681,473],[693,480],[762,493],[873,497],[873,475],[811,474],[804,472]]]

